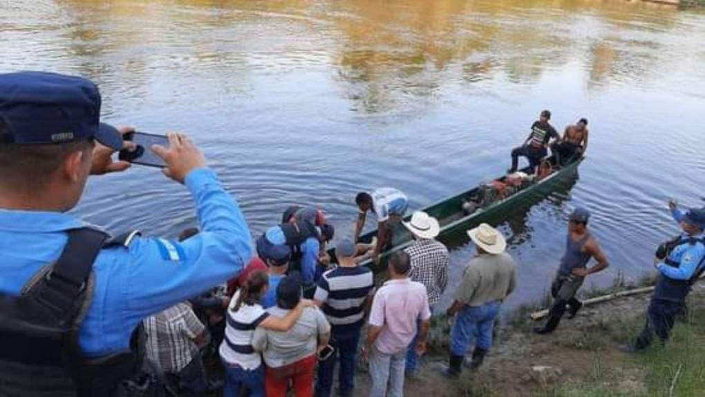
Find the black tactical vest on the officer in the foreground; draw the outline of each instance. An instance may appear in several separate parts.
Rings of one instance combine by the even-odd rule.
[[[108,235],[68,231],[61,257],[19,296],[0,295],[0,396],[76,396],[78,329],[92,300],[93,262]]]

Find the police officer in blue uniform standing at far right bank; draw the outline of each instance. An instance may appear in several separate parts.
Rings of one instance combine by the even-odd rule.
[[[627,351],[642,350],[654,341],[654,334],[665,342],[675,324],[675,318],[685,314],[685,298],[692,283],[704,270],[705,258],[705,209],[678,208],[675,202],[669,207],[682,234],[659,246],[654,266],[658,269],[656,288],[646,313],[646,325]]]

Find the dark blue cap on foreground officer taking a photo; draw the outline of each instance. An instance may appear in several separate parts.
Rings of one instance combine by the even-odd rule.
[[[44,72],[0,74],[0,124],[4,124],[0,144],[95,138],[122,149],[118,130],[100,123],[100,103],[98,87],[85,78]]]

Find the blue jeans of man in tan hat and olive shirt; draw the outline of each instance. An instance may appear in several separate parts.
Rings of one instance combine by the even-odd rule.
[[[500,306],[501,302],[494,300],[482,306],[465,306],[460,309],[453,330],[450,331],[450,353],[465,355],[472,338],[477,348],[489,350],[492,346],[492,328]]]

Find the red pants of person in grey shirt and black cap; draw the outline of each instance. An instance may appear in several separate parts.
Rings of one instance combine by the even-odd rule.
[[[290,380],[296,397],[313,396],[313,374],[316,371],[317,361],[316,355],[313,354],[284,367],[267,367],[264,375],[266,396],[286,396],[286,387]]]

